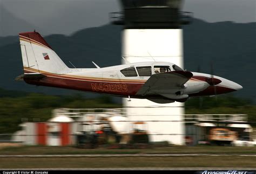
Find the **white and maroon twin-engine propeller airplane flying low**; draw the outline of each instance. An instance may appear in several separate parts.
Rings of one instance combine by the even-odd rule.
[[[24,74],[16,80],[156,103],[185,102],[242,89],[219,76],[184,71],[171,62],[149,61],[100,68],[69,68],[36,31],[19,33]]]

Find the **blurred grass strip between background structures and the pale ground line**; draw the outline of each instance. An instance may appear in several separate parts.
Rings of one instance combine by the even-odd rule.
[[[151,149],[78,149],[76,147],[22,146],[0,149],[0,155],[82,155],[82,154],[245,154],[256,155],[256,147],[223,147],[198,145]]]

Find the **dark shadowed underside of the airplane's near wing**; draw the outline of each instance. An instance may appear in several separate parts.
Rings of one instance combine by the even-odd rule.
[[[136,95],[159,94],[169,98],[167,95],[176,94],[184,88],[184,84],[193,76],[187,71],[173,71],[153,74],[139,89]]]

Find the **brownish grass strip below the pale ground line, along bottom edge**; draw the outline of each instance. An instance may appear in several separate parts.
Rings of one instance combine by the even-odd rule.
[[[0,168],[256,168],[256,157],[0,158]]]

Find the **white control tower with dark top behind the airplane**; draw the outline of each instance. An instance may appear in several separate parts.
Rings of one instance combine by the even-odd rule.
[[[182,25],[190,12],[181,12],[181,0],[120,0],[123,12],[113,12],[111,22],[123,25],[122,56],[126,61],[167,61],[183,66]],[[123,64],[126,62],[124,60]],[[143,78],[143,77],[142,77]],[[154,103],[123,99],[130,121],[147,122],[150,141],[184,144],[184,103]]]

